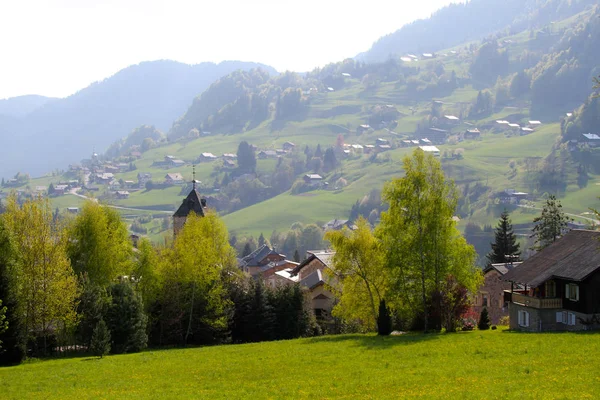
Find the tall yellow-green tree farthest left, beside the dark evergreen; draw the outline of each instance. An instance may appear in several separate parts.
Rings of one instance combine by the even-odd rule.
[[[74,325],[77,316],[78,286],[67,256],[67,235],[53,221],[48,199],[40,197],[19,206],[11,196],[4,221],[14,239],[18,312],[35,339],[34,354],[46,354],[49,337]]]

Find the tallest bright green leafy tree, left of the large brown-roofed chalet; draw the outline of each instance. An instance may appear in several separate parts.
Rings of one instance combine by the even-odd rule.
[[[382,213],[377,235],[393,277],[391,286],[399,295],[398,307],[420,308],[427,331],[430,293],[441,292],[448,275],[474,291],[481,273],[474,266],[475,250],[452,220],[458,195],[439,160],[416,149],[403,165],[405,176],[384,188],[389,210]]]

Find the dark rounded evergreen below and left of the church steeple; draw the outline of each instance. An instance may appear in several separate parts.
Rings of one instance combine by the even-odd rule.
[[[110,303],[105,318],[112,352],[121,354],[143,350],[148,344],[148,318],[144,314],[141,296],[127,282],[111,285],[109,293]]]

